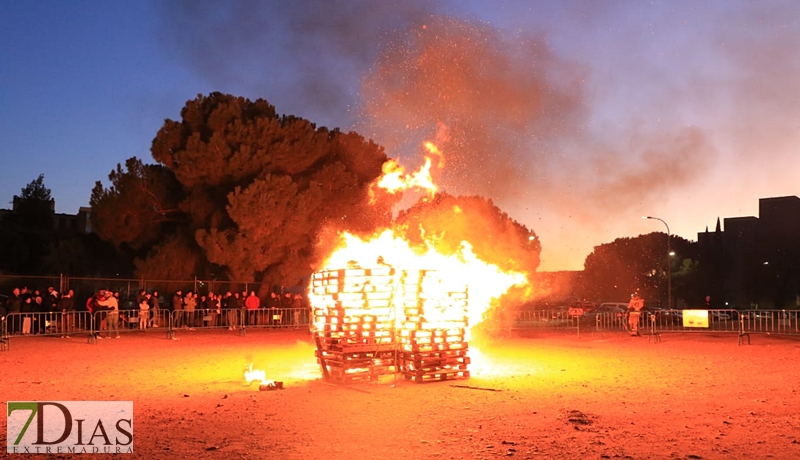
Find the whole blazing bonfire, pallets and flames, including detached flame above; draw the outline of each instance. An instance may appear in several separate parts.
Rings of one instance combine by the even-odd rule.
[[[425,147],[443,167],[441,151],[432,142]],[[370,188],[372,200],[377,189],[434,195],[431,156],[413,174],[395,160],[386,162]],[[312,333],[327,379],[374,380],[398,371],[417,383],[469,378],[470,329],[483,321],[493,298],[528,280],[481,260],[468,241],[443,253],[422,227],[420,235],[423,242],[412,246],[392,229],[364,239],[342,233],[314,273]]]

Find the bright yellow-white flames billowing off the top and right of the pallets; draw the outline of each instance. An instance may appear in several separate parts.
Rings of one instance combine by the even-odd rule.
[[[439,273],[441,284],[425,286],[426,294],[431,296],[463,290],[466,286],[470,328],[483,320],[492,298],[501,296],[514,285],[527,283],[525,274],[504,272],[496,265],[479,259],[466,241],[462,241],[457,253],[445,255],[438,252],[432,242],[426,242],[423,248],[412,248],[407,241],[389,229],[368,239],[343,233],[340,247],[331,254],[322,270],[380,266],[402,270],[435,270]],[[313,294],[310,294],[310,300],[312,305],[321,302]],[[452,319],[446,309],[428,311],[426,316],[429,322]]]

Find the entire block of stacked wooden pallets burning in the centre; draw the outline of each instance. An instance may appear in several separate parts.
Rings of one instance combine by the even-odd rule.
[[[430,270],[328,270],[312,279],[317,360],[327,379],[468,378],[467,293]]]

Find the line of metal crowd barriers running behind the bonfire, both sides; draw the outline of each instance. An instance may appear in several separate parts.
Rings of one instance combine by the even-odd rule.
[[[684,321],[687,310],[643,311],[638,329],[641,334],[735,333],[800,335],[798,310],[701,310],[699,324]],[[9,350],[18,337],[64,337],[85,335],[89,343],[133,332],[163,332],[169,339],[195,330],[224,329],[245,335],[248,328],[308,328],[306,308],[195,309],[169,311],[123,309],[118,311],[9,313],[0,318],[0,351]],[[695,312],[696,313],[696,312]],[[563,310],[524,310],[516,312],[511,329],[554,329],[605,333],[629,330],[627,313],[588,312],[582,315]]]

